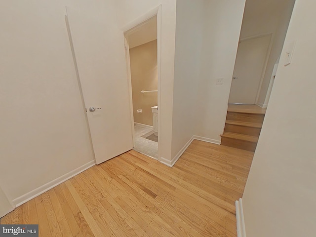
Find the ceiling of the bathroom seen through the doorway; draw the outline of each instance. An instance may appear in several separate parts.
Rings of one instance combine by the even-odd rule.
[[[128,36],[129,48],[157,40],[157,16],[150,18],[139,27],[135,27]]]

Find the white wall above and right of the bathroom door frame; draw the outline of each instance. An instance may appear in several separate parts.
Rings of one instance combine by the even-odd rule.
[[[161,157],[171,160],[172,102],[176,0],[116,0],[118,25],[122,28],[161,4]],[[158,102],[159,103],[159,102]]]

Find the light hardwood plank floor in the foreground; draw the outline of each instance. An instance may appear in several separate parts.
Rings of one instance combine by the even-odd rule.
[[[194,140],[170,168],[135,151],[80,173],[1,219],[41,237],[236,237],[253,153]]]

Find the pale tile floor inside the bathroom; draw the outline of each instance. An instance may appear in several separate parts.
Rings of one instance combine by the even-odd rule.
[[[143,138],[142,136],[150,131],[152,128],[144,127],[135,124],[135,147],[134,150],[143,153],[151,158],[158,159],[158,142]]]

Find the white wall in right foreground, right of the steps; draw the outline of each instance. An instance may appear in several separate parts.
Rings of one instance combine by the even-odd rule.
[[[296,0],[242,198],[247,237],[316,233],[315,8],[314,0]],[[292,40],[292,63],[284,67]]]

